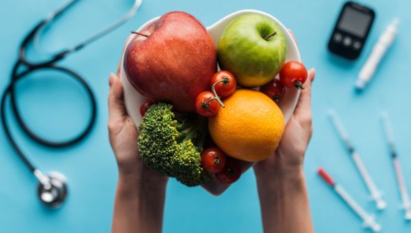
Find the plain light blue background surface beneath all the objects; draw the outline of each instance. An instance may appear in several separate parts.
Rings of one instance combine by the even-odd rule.
[[[9,82],[12,64],[23,36],[64,1],[0,1],[0,88]],[[61,171],[69,179],[70,193],[63,208],[48,210],[38,201],[36,180],[23,167],[5,135],[0,133],[0,226],[1,232],[109,232],[116,163],[108,143],[108,75],[116,71],[123,42],[131,29],[172,10],[197,16],[204,25],[245,8],[269,12],[290,27],[308,67],[316,68],[313,87],[314,136],[306,154],[305,173],[316,232],[363,232],[361,221],[316,175],[325,167],[368,212],[373,202],[345,148],[338,140],[327,110],[340,114],[375,183],[384,191],[388,208],[377,213],[383,232],[411,232],[411,223],[399,210],[399,193],[382,134],[379,113],[387,110],[393,122],[403,173],[411,187],[411,1],[368,0],[377,12],[375,24],[360,59],[347,62],[326,49],[329,33],[343,1],[160,1],[144,0],[129,22],[63,62],[86,77],[97,93],[99,115],[92,134],[69,149],[45,148],[21,134],[13,119],[13,134],[34,162],[45,171]],[[81,1],[42,36],[47,50],[74,45],[103,27],[132,5],[132,1]],[[399,36],[384,58],[369,88],[358,95],[353,83],[373,42],[393,17],[401,18]],[[39,76],[39,75],[38,75]],[[51,74],[18,84],[23,117],[36,132],[49,138],[73,136],[90,114],[84,90],[69,79]],[[10,108],[9,108],[10,109]],[[9,116],[10,111],[9,111]],[[409,189],[410,190],[410,189]],[[247,172],[221,197],[201,188],[186,188],[171,180],[167,189],[164,232],[262,232],[256,182]]]

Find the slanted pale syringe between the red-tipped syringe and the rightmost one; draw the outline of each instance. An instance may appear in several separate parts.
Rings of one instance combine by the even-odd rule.
[[[373,179],[371,178],[371,175],[362,163],[360,155],[351,144],[351,140],[349,139],[348,133],[345,131],[345,128],[343,127],[343,123],[341,123],[341,121],[338,119],[336,112],[334,110],[329,110],[329,116],[332,120],[334,127],[336,128],[336,131],[338,132],[338,136],[340,136],[340,139],[343,140],[345,147],[347,147],[349,153],[351,154],[351,158],[353,158],[358,171],[360,171],[362,180],[364,180],[366,187],[369,189],[369,192],[371,193],[371,198],[375,201],[375,204],[377,204],[377,209],[383,210],[384,208],[386,208],[387,204],[382,199],[381,193],[378,191],[377,186],[375,186]]]

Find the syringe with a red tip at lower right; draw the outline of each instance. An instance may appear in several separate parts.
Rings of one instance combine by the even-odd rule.
[[[348,204],[348,206],[351,207],[356,214],[358,214],[362,221],[364,221],[363,225],[365,228],[371,228],[373,232],[379,232],[381,230],[381,225],[375,221],[374,216],[365,212],[365,210],[358,205],[358,203],[344,190],[342,186],[334,182],[332,177],[330,177],[324,169],[320,168],[318,173],[321,175],[321,178],[329,184],[329,186],[332,186],[334,191]]]

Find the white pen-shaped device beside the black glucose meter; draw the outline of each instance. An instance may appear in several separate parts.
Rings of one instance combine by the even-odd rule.
[[[366,60],[364,66],[362,66],[360,74],[358,75],[356,81],[356,88],[358,90],[363,90],[373,77],[379,62],[381,62],[390,45],[393,44],[393,40],[398,32],[398,24],[399,19],[395,18],[381,36],[379,36],[377,44],[374,45],[373,51],[371,51],[369,58]]]

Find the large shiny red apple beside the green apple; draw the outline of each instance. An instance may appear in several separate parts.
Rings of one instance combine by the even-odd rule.
[[[197,95],[208,90],[216,58],[212,37],[194,16],[169,12],[129,43],[125,71],[147,99],[191,112]]]

